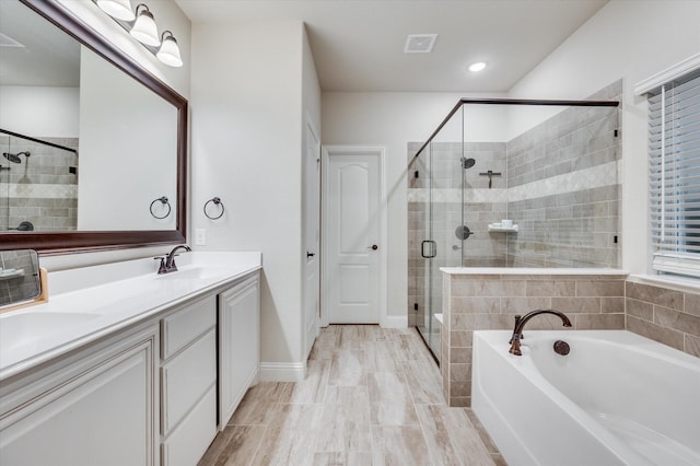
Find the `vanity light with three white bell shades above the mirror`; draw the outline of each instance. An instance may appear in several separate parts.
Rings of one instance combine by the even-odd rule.
[[[93,0],[93,2],[163,63],[174,68],[183,66],[175,36],[171,31],[164,31],[159,37],[153,13],[147,4],[139,3],[133,12],[130,0]]]

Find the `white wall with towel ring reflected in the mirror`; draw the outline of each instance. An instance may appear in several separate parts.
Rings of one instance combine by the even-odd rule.
[[[177,109],[83,46],[80,115],[78,230],[174,230]]]

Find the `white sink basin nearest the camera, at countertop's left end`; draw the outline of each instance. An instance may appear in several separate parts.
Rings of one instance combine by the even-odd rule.
[[[69,312],[23,312],[0,316],[0,341],[11,350],[61,333],[100,314]]]

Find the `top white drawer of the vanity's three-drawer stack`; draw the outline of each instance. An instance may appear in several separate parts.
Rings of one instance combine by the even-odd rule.
[[[215,325],[217,296],[209,296],[168,315],[161,322],[161,356],[163,360]]]

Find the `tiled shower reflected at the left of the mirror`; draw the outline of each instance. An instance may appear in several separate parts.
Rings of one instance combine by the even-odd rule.
[[[0,231],[77,229],[77,148],[0,129]]]

